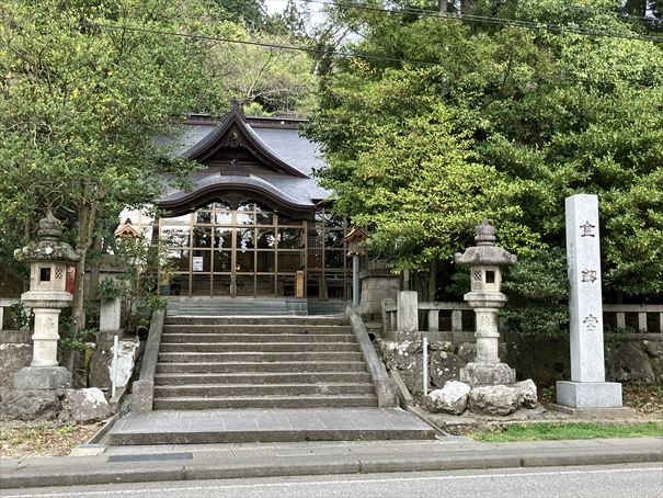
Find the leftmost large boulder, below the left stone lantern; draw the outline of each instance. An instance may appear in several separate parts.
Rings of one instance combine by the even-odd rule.
[[[54,420],[60,408],[55,391],[10,391],[0,403],[0,420]]]

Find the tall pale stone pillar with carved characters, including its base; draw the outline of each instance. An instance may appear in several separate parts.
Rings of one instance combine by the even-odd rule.
[[[604,382],[598,197],[572,195],[565,208],[571,382],[557,383],[557,399],[574,408],[620,407],[621,385]]]

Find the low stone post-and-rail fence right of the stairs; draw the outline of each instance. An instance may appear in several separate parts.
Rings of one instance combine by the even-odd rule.
[[[467,303],[454,302],[422,302],[418,303],[418,310],[428,312],[428,331],[436,332],[439,330],[439,312],[451,312],[451,331],[462,330],[462,312],[471,308]],[[660,304],[604,304],[604,316],[607,314],[616,315],[617,327],[626,326],[626,315],[638,315],[637,332],[648,332],[648,314],[659,315],[658,332],[663,333],[663,305]],[[397,328],[398,307],[396,301],[387,298],[382,301],[382,330],[390,331]]]

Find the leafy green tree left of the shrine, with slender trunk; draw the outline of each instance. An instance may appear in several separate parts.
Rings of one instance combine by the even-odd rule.
[[[35,212],[61,206],[87,254],[103,216],[152,199],[160,176],[190,169],[167,159],[153,137],[203,102],[215,109],[209,44],[149,30],[201,30],[210,12],[194,0],[9,0],[0,9],[2,227],[16,233]],[[84,270],[83,257],[72,310],[79,329]]]

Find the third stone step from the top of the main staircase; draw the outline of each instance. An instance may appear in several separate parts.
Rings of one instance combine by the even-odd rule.
[[[356,342],[352,333],[194,333],[164,332],[162,343],[171,342]]]

